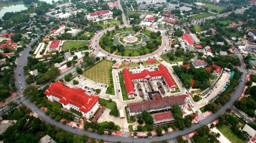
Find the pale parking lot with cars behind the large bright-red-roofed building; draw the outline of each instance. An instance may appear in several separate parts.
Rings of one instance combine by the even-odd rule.
[[[77,80],[79,83],[77,85],[73,84],[73,80]],[[67,83],[68,87],[71,88],[81,88],[83,90],[86,90],[87,94],[96,94],[96,95],[103,95],[108,88],[108,85],[99,83],[93,80],[90,80],[88,78],[85,78],[81,75],[78,75],[73,80]],[[100,93],[96,93],[96,89],[100,89]]]

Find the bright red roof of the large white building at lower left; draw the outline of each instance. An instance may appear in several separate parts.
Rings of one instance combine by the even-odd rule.
[[[62,104],[72,104],[79,108],[80,111],[87,113],[91,111],[94,105],[98,102],[99,97],[97,96],[89,96],[84,94],[84,90],[79,89],[71,89],[63,85],[63,82],[57,81],[52,83],[50,87],[44,92],[47,96],[55,96],[59,98],[59,102]]]

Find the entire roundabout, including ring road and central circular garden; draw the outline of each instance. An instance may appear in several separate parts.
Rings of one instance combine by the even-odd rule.
[[[164,31],[140,26],[121,25],[96,33],[91,47],[97,56],[109,60],[140,62],[157,58],[168,48]]]

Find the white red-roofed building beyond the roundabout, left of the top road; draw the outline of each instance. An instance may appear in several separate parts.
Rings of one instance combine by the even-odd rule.
[[[86,16],[88,20],[96,20],[96,19],[103,19],[103,18],[109,18],[113,16],[113,12],[110,10],[101,10],[101,11],[96,11],[93,13],[90,13]]]

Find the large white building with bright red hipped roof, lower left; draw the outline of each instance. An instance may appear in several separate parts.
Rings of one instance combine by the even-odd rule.
[[[99,107],[99,97],[85,94],[85,90],[71,89],[66,87],[63,82],[51,83],[50,87],[44,92],[51,101],[62,104],[63,108],[76,110],[86,118],[90,118]]]

